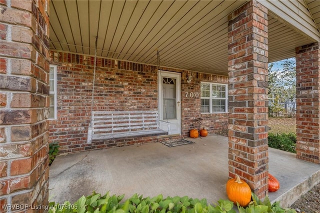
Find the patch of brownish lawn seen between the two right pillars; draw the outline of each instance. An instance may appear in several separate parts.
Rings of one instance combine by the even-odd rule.
[[[294,118],[283,118],[283,117],[269,117],[269,127],[272,133],[295,133],[295,117]]]

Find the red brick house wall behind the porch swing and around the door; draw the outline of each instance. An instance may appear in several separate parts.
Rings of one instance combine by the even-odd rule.
[[[91,116],[93,56],[50,51],[50,63],[57,65],[57,119],[49,121],[50,141],[58,141],[60,153],[95,148],[123,146],[156,141],[157,137],[136,137],[109,142],[86,143]],[[189,71],[162,70],[181,73],[182,137],[196,126],[195,118],[203,117],[209,133],[226,135],[227,113],[200,114],[200,98],[187,98],[184,91],[200,92],[200,81],[227,83],[227,76]],[[97,58],[93,110],[157,110],[157,67],[134,62]]]

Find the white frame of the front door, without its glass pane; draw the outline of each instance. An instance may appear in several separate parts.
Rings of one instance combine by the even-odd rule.
[[[162,92],[162,77],[175,78],[176,84],[176,119],[163,119],[163,92]],[[170,123],[171,134],[181,135],[181,74],[178,72],[158,70],[158,112],[159,119]],[[162,122],[163,123],[163,122]],[[167,125],[160,122],[160,128],[167,130]]]

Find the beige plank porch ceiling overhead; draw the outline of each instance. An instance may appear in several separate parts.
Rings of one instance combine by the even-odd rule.
[[[227,15],[243,0],[51,0],[50,48],[227,74]],[[305,1],[320,28],[320,5]],[[268,14],[269,62],[314,42]]]

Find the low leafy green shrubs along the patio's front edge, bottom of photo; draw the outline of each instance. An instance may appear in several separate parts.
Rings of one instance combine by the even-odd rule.
[[[163,198],[161,194],[155,197],[142,197],[142,195],[134,194],[124,202],[120,202],[123,195],[110,196],[109,192],[101,196],[101,194],[93,192],[89,196],[82,196],[74,204],[65,201],[63,204],[50,202],[49,213],[59,212],[112,212],[112,213],[235,213],[233,202],[229,200],[218,200],[216,205],[207,204],[206,199],[192,199],[188,196],[174,196]],[[246,212],[281,212],[295,213],[295,210],[282,208],[279,202],[270,203],[268,197],[261,202],[257,196],[252,193],[252,200],[245,208],[238,206],[240,213]]]

